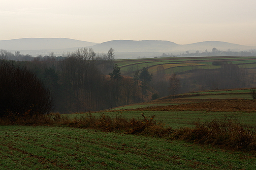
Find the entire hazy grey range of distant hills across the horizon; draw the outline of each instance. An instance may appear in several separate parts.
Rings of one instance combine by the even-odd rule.
[[[82,47],[92,47],[95,52],[106,53],[109,48],[115,49],[117,59],[137,58],[137,57],[155,57],[162,53],[180,54],[189,50],[190,53],[199,50],[204,52],[206,49],[210,52],[213,48],[220,50],[241,51],[256,49],[254,46],[242,46],[238,44],[226,43],[221,41],[205,41],[187,45],[179,45],[170,41],[161,40],[112,40],[103,43],[92,43],[68,38],[22,38],[13,40],[0,40],[0,49],[6,49],[11,52],[20,51],[21,54],[30,54],[32,56],[47,55],[49,52],[55,52],[56,56],[66,52],[73,52]]]

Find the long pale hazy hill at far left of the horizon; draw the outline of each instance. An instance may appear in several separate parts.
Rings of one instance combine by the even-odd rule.
[[[22,38],[13,40],[1,40],[0,49],[6,50],[49,50],[81,48],[96,45],[87,41],[79,41],[68,38]]]

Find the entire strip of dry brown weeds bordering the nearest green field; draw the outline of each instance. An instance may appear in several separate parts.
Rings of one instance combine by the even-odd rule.
[[[102,114],[98,117],[91,113],[80,118],[70,119],[59,113],[30,116],[25,114],[16,118],[16,114],[9,113],[5,118],[0,118],[0,125],[51,125],[75,128],[93,128],[104,132],[122,132],[140,134],[160,138],[184,140],[187,142],[221,146],[227,149],[256,151],[255,127],[239,123],[237,119],[225,117],[224,120],[208,122],[195,122],[194,128],[180,129],[165,128],[164,124],[154,120],[155,116],[147,118],[142,113],[142,118],[127,119],[121,114],[109,117]]]

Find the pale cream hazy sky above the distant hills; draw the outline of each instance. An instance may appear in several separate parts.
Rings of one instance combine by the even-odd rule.
[[[256,0],[1,0],[0,22],[0,40],[214,40],[256,46]]]

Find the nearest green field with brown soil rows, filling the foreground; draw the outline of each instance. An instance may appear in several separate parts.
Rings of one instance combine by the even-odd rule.
[[[0,126],[4,170],[254,170],[250,153],[91,129]]]

